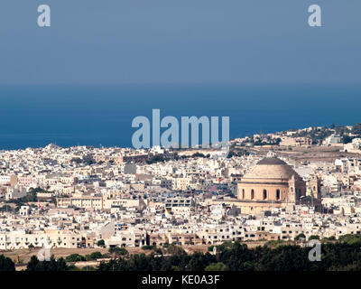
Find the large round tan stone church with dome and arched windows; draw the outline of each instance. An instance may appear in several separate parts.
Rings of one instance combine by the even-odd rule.
[[[305,195],[306,182],[274,154],[267,154],[237,183],[237,207],[242,214],[299,204]]]

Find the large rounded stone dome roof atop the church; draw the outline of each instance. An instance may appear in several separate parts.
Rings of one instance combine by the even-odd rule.
[[[290,165],[273,156],[265,157],[256,163],[254,167],[245,173],[243,179],[277,179],[286,181],[290,180],[292,175],[296,179],[300,177],[297,172],[293,171]]]

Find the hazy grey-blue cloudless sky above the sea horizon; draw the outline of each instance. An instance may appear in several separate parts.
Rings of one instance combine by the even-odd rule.
[[[0,84],[360,83],[360,14],[359,0],[1,0]]]

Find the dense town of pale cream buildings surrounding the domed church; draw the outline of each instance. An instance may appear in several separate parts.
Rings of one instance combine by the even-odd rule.
[[[0,151],[0,250],[182,247],[361,232],[360,125],[212,149]]]

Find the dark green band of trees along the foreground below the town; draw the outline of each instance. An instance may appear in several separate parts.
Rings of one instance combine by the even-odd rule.
[[[112,248],[112,258],[103,261],[98,271],[359,271],[361,270],[361,237],[346,235],[321,244],[321,261],[311,262],[312,247],[270,242],[263,247],[248,248],[245,244],[224,243],[216,254],[187,254],[181,247],[169,245],[153,248],[149,255],[129,255],[125,248]],[[213,251],[213,247],[209,247]],[[95,254],[95,253],[94,253]],[[100,254],[101,255],[101,254]],[[80,256],[81,257],[81,256]],[[99,256],[101,257],[101,256]],[[83,258],[72,255],[56,260],[39,261],[32,256],[27,271],[80,270],[73,263]],[[87,258],[86,258],[87,259]],[[93,258],[94,259],[94,258]],[[68,264],[67,264],[68,261]],[[71,264],[71,265],[70,265]],[[0,256],[0,271],[14,271],[14,262]]]

